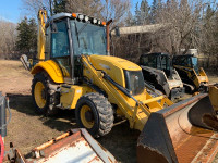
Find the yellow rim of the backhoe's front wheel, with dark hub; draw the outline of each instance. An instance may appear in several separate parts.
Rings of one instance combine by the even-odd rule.
[[[90,129],[94,126],[94,117],[92,109],[88,105],[83,105],[81,108],[81,121],[84,127]]]

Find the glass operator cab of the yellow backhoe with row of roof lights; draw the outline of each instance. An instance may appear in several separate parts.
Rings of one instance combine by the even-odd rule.
[[[61,67],[64,82],[80,77],[81,54],[107,54],[106,23],[78,13],[59,13],[46,24],[45,59]]]

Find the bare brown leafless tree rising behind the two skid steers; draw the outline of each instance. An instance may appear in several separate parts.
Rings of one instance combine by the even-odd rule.
[[[162,5],[156,22],[164,27],[153,35],[153,51],[179,54],[181,49],[185,49],[185,53],[190,48],[196,48],[202,7],[201,0],[174,0]]]

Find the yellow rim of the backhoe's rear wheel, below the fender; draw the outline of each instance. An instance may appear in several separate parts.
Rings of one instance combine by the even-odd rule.
[[[45,86],[41,82],[37,82],[34,90],[35,101],[38,108],[43,109],[46,105]]]

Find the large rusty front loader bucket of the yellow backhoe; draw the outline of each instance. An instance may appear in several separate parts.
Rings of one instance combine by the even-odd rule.
[[[137,140],[137,161],[211,162],[218,150],[217,124],[203,93],[152,113]]]

